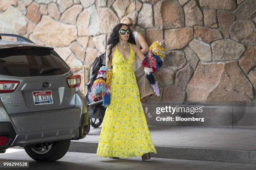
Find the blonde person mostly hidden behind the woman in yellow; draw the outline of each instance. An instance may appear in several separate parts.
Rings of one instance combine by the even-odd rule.
[[[130,29],[133,32],[133,37],[136,41],[136,45],[141,49],[142,54],[146,55],[149,51],[148,43],[146,42],[145,38],[140,32],[133,30],[133,26],[134,26],[133,20],[129,17],[125,17],[121,20],[121,23],[127,24],[130,27]],[[136,56],[135,56],[135,59],[136,61],[134,62],[134,71],[137,70],[138,67],[141,65],[140,60],[138,60]]]

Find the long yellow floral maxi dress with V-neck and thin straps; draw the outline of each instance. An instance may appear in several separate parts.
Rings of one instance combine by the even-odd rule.
[[[131,47],[131,44],[130,44]],[[115,48],[110,105],[102,122],[96,155],[130,158],[156,153],[133,71],[134,51],[126,61]]]

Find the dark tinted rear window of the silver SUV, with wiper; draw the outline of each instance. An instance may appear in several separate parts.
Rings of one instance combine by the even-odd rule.
[[[43,69],[52,67],[60,68],[50,72],[41,72]],[[42,48],[0,50],[0,75],[16,77],[62,75],[69,70],[69,66],[54,50]]]

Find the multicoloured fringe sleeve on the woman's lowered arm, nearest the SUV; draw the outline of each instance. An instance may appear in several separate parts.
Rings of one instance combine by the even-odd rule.
[[[93,82],[91,92],[95,96],[101,96],[103,98],[103,106],[107,107],[110,105],[110,85],[113,71],[107,66],[100,67],[97,73],[96,80]]]

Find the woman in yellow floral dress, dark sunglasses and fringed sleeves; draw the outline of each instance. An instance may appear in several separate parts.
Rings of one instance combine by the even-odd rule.
[[[163,41],[160,44],[164,44]],[[102,95],[103,105],[108,106],[100,132],[98,156],[113,159],[142,156],[142,160],[148,160],[151,152],[156,153],[133,71],[135,55],[146,61],[128,25],[118,24],[108,40],[106,66],[100,68],[92,86],[92,93]],[[161,67],[162,62],[159,65]]]

